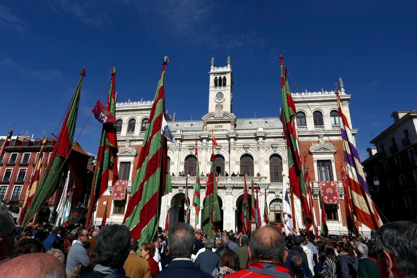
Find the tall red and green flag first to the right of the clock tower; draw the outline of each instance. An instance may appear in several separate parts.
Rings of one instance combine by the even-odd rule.
[[[292,99],[291,90],[289,89],[286,72],[283,65],[283,56],[279,56],[281,64],[281,91],[282,91],[282,126],[286,138],[289,185],[294,194],[301,199],[301,180],[303,169],[301,167],[299,144],[297,140],[297,131],[295,116],[296,110],[294,100]]]

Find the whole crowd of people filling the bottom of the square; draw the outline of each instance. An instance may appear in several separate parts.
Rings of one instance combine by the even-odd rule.
[[[374,239],[285,236],[267,225],[246,234],[217,230],[213,240],[176,223],[139,246],[124,225],[20,228],[0,210],[0,260],[5,278],[416,278],[417,224],[384,224]]]

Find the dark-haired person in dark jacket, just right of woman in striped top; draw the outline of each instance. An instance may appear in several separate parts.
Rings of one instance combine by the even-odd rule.
[[[356,259],[352,248],[346,242],[339,242],[337,246],[339,262],[337,273],[341,278],[358,278],[359,262]]]

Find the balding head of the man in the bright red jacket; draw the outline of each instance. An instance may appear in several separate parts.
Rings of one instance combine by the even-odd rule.
[[[249,249],[252,262],[284,263],[286,256],[285,238],[273,226],[257,228],[251,235]]]

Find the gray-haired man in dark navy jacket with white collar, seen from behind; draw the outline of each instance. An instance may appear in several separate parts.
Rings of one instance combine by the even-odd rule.
[[[169,245],[167,247],[172,255],[172,262],[169,263],[162,271],[156,274],[156,278],[171,277],[196,277],[196,278],[213,278],[210,274],[205,273],[198,268],[191,260],[193,253],[195,237],[194,228],[188,223],[176,223],[169,228]]]

